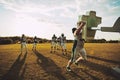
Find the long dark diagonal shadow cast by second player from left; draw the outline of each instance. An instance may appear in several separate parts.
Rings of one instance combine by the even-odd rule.
[[[33,50],[35,55],[38,57],[37,63],[43,68],[46,73],[53,77],[57,77],[59,80],[66,80],[66,78],[61,74],[61,69],[58,67],[53,60],[43,56],[36,50]]]

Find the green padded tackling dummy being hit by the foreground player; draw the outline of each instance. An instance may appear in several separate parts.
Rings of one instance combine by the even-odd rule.
[[[97,27],[101,24],[101,17],[96,16],[95,11],[90,11],[86,15],[80,15],[78,21],[85,21],[87,24],[83,29],[83,38],[85,40],[93,40],[95,36],[95,30],[92,27]]]

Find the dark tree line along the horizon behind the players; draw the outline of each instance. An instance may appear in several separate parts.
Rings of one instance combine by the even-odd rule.
[[[20,43],[20,36],[13,36],[13,37],[0,37],[0,44],[19,44]],[[44,38],[37,38],[38,43],[50,43],[51,40],[44,39]],[[73,40],[67,40],[67,43],[72,43]],[[106,41],[105,39],[93,39],[85,41],[86,43],[119,43],[118,40],[110,40]],[[27,37],[27,43],[33,43],[33,37]]]

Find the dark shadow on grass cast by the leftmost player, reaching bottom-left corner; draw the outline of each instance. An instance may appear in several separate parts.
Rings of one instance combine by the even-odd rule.
[[[22,59],[20,59],[21,56],[22,56],[22,54],[20,54],[18,56],[18,58],[13,63],[13,65],[11,66],[9,71],[2,77],[2,80],[24,80],[24,74],[25,74],[25,70],[26,70],[26,65],[24,66],[21,75],[19,75],[19,74],[20,74],[20,71],[22,69],[22,66],[25,63],[27,53],[25,53],[25,55],[23,56]]]

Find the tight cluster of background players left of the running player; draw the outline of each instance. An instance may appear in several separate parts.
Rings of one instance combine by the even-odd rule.
[[[55,53],[56,50],[62,49],[62,54],[67,55],[67,49],[66,49],[66,37],[62,33],[61,36],[57,38],[55,34],[53,34],[51,39],[51,51],[50,53]]]

